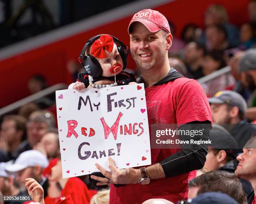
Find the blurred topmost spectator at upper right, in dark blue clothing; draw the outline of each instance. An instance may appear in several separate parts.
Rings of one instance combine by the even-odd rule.
[[[228,22],[228,13],[223,5],[210,5],[205,11],[205,27],[212,25],[221,25],[225,29],[231,47],[239,45],[239,30]],[[200,37],[200,42],[206,42],[205,33]]]

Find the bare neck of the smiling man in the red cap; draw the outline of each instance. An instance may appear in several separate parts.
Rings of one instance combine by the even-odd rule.
[[[168,59],[168,58],[167,58]],[[171,67],[168,63],[164,63],[162,67],[154,67],[152,70],[143,71],[141,70],[141,75],[145,84],[145,87],[151,87],[155,83],[159,82],[162,78],[164,78]]]

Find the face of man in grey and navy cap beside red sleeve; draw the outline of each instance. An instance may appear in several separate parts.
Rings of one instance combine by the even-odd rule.
[[[210,105],[212,112],[212,121],[215,124],[230,124],[231,117],[227,104],[212,103]]]

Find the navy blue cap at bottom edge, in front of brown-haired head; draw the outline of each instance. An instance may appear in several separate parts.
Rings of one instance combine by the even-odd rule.
[[[238,204],[235,199],[220,192],[203,193],[188,201],[187,203],[191,204]],[[185,204],[185,202],[181,201],[178,204]]]

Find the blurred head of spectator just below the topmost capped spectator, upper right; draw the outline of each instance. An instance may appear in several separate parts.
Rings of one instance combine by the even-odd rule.
[[[223,52],[230,48],[227,33],[222,25],[209,25],[205,30],[206,47],[210,52]]]

